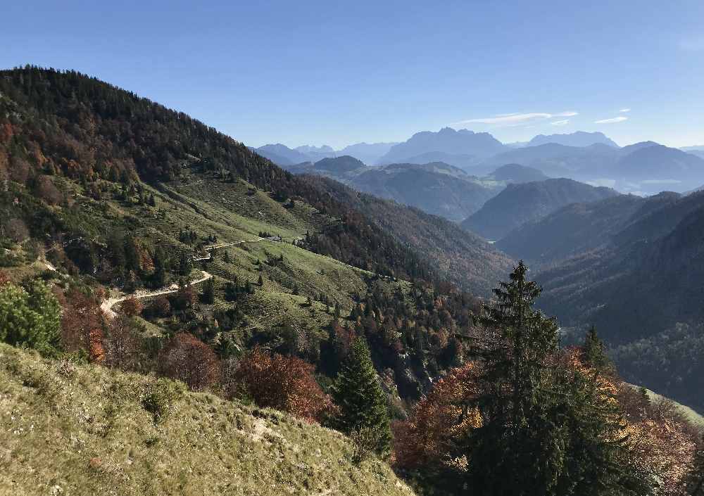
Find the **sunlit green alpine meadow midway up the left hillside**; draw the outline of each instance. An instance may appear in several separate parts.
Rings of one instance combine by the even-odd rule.
[[[66,186],[80,188],[73,182],[65,182]],[[155,195],[156,208],[106,199],[103,203],[107,203],[108,209],[103,211],[98,202],[82,198],[83,212],[87,217],[116,219],[114,222],[118,224],[122,218],[136,218],[139,227],[134,234],[150,246],[162,246],[175,258],[180,252],[195,253],[192,246],[178,240],[182,229],[192,229],[200,239],[215,234],[218,243],[257,239],[260,231],[283,237],[284,243],[259,241],[215,250],[213,260],[194,263],[194,269],[207,269],[215,276],[213,308],[232,307],[232,303],[222,299],[227,281],[237,277],[240,284],[250,281],[255,285],[257,291],[239,303],[250,318],[251,329],[275,329],[285,317],[294,325],[320,330],[332,320],[332,311],[328,312],[325,305],[316,301],[308,307],[307,296],[316,300],[324,293],[332,306],[339,303],[346,314],[353,306],[353,296],[367,291],[365,277],[372,273],[291,244],[305,236],[306,231],[312,233],[334,222],[310,205],[297,201],[293,209],[287,209],[268,193],[248,193],[253,188],[244,181],[226,183],[204,179],[202,174],[187,174],[184,182],[160,185],[158,189],[145,185],[145,189]],[[159,211],[165,215],[158,215]],[[229,262],[223,260],[225,250]],[[277,260],[280,255],[284,257],[282,262]],[[262,287],[256,285],[260,275],[264,281]],[[403,281],[397,284],[408,286]],[[298,288],[298,295],[292,294],[294,287]]]

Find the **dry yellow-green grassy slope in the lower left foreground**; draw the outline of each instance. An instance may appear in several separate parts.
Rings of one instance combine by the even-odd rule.
[[[0,494],[411,495],[339,433],[209,393],[154,424],[147,376],[0,344]],[[60,489],[59,489],[60,488]]]

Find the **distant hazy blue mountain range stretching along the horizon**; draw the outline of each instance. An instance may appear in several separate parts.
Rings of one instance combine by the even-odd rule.
[[[515,163],[548,177],[566,177],[639,195],[663,190],[684,193],[704,184],[702,147],[677,149],[654,141],[619,147],[601,132],[541,134],[525,143],[504,145],[489,133],[446,127],[439,132],[416,133],[403,143],[358,144],[338,152],[326,146],[291,149],[281,144],[266,145],[257,152],[284,167],[351,155],[365,165],[442,162],[479,177]]]

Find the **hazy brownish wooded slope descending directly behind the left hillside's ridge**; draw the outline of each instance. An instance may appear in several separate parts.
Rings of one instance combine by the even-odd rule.
[[[494,246],[450,222],[394,201],[376,198],[329,178],[311,176],[337,201],[363,212],[380,229],[423,253],[439,274],[472,294],[488,297],[498,280],[515,266]]]

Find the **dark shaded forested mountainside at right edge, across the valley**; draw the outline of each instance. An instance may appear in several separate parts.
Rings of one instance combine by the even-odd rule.
[[[565,329],[595,324],[626,379],[701,411],[703,220],[703,193],[617,196],[568,205],[498,244],[539,268],[541,307]]]

